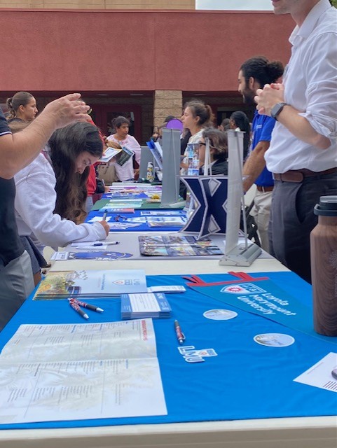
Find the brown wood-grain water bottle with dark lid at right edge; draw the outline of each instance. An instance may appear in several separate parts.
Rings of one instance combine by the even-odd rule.
[[[337,196],[321,196],[310,234],[314,329],[337,336]]]

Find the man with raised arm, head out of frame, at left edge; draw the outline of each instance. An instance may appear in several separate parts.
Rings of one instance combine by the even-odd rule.
[[[34,288],[32,265],[18,237],[13,176],[28,165],[58,128],[88,118],[80,94],[49,103],[25,130],[11,134],[0,108],[0,331]]]

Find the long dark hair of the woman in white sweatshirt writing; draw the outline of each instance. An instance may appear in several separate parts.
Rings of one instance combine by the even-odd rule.
[[[54,213],[76,224],[81,223],[85,216],[86,182],[90,167],[79,174],[75,172],[75,160],[85,151],[98,158],[102,156],[103,144],[98,128],[90,123],[73,123],[56,130],[48,144],[56,177]]]

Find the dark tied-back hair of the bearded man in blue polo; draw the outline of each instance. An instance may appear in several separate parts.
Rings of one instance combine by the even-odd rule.
[[[246,85],[252,77],[263,88],[265,84],[275,83],[282,76],[283,64],[280,61],[269,61],[265,56],[255,56],[247,59],[240,70],[245,76]]]

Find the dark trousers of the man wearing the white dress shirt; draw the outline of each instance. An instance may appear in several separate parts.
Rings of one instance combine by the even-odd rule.
[[[320,196],[337,195],[337,173],[275,181],[269,221],[270,253],[311,283],[310,232],[317,225]]]

